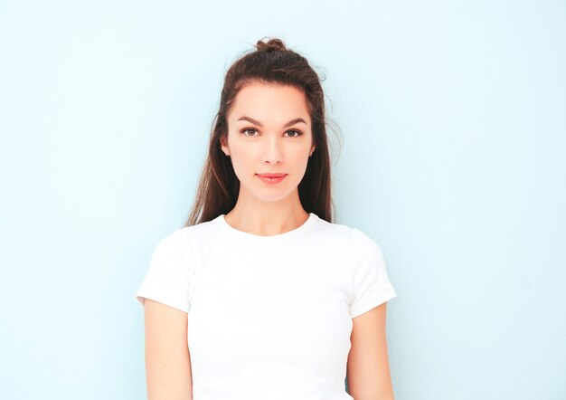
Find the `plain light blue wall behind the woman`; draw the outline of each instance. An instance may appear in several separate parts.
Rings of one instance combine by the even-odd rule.
[[[134,293],[224,71],[278,35],[327,76],[337,222],[398,291],[397,399],[566,398],[566,4],[228,4],[0,4],[0,397],[145,397]]]

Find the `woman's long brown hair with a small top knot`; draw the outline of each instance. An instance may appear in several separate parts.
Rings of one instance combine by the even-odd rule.
[[[289,50],[277,39],[258,41],[256,50],[234,62],[226,72],[220,108],[214,118],[208,157],[195,195],[193,209],[184,226],[211,221],[228,214],[236,205],[240,180],[234,173],[231,158],[221,150],[221,138],[228,135],[227,116],[238,92],[251,82],[293,86],[305,93],[312,120],[313,145],[305,176],[298,184],[301,205],[307,213],[333,222],[330,155],[326,138],[325,97],[316,71],[307,59]]]

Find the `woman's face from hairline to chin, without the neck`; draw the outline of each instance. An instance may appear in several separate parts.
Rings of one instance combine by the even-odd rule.
[[[252,83],[241,89],[227,116],[230,155],[240,195],[262,201],[295,195],[314,151],[304,93],[291,86]],[[280,176],[269,178],[269,175]]]

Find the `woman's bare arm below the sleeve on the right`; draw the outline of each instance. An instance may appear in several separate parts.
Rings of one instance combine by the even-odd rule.
[[[353,320],[348,355],[348,392],[355,400],[392,400],[385,319],[387,302]]]

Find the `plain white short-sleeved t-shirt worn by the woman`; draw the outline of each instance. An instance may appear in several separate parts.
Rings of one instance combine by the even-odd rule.
[[[310,213],[274,236],[177,229],[136,297],[187,312],[194,400],[351,400],[352,319],[396,295],[369,236]]]

